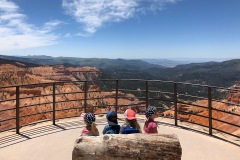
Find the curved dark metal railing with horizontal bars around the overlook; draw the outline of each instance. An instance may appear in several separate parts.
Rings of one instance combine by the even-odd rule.
[[[123,82],[125,83],[126,81],[127,82],[136,82],[136,81],[142,82],[141,88],[143,88],[143,89],[134,90],[134,89],[128,89],[128,88],[121,88],[120,87],[121,85],[119,85],[119,84],[122,84]],[[108,87],[106,91],[105,90],[104,91],[102,91],[102,90],[91,90],[89,85],[94,84],[95,82],[102,82],[102,83],[110,82],[110,83],[106,83],[106,85],[110,85],[112,87],[110,87],[110,88]],[[173,92],[160,91],[160,90],[159,91],[158,90],[151,90],[150,88],[152,88],[153,85],[158,85],[157,83],[164,83],[164,85],[165,85],[165,83],[169,84],[168,87],[173,87],[172,88]],[[81,89],[82,91],[76,91],[76,92],[61,92],[61,89],[57,88],[57,85],[62,86],[62,85],[65,85],[65,84],[74,85],[74,86],[81,85],[81,87],[83,87],[83,89]],[[115,86],[114,86],[114,84],[115,84]],[[195,88],[196,87],[206,88],[206,92],[208,91],[208,93],[206,95],[208,97],[206,98],[206,97],[194,96],[194,95],[190,95],[190,94],[182,94],[182,92],[183,92],[182,91],[182,87],[184,87],[182,85],[188,85],[188,86],[192,86],[192,87],[195,87]],[[25,96],[25,97],[20,97],[19,96],[21,94],[21,92],[19,90],[20,88],[34,89],[35,87],[48,87],[48,86],[53,87],[54,91],[53,91],[52,94],[42,94],[42,95]],[[114,87],[115,87],[115,89],[114,89]],[[231,92],[233,92],[233,93],[240,92],[240,89],[216,87],[216,86],[201,85],[201,84],[192,84],[192,83],[185,83],[185,82],[174,82],[174,81],[163,81],[163,80],[144,80],[144,79],[120,79],[120,80],[116,80],[116,79],[99,79],[99,80],[92,80],[92,81],[86,81],[86,80],[83,80],[83,81],[82,80],[79,80],[79,81],[59,81],[59,82],[24,84],[24,85],[0,87],[0,89],[7,89],[7,88],[16,88],[16,94],[18,94],[18,95],[16,96],[15,99],[1,100],[0,104],[3,103],[3,102],[14,101],[14,102],[16,102],[16,108],[9,108],[9,109],[5,109],[5,110],[1,110],[0,113],[6,112],[6,111],[10,111],[10,110],[16,110],[16,117],[8,118],[8,119],[5,119],[5,120],[1,120],[0,122],[16,120],[16,128],[15,129],[16,129],[17,133],[19,133],[19,128],[23,127],[23,125],[20,126],[20,123],[19,123],[20,119],[24,118],[24,117],[28,117],[28,116],[35,116],[35,115],[38,115],[38,114],[52,113],[53,124],[55,124],[55,120],[56,120],[55,113],[56,112],[60,112],[60,111],[79,110],[79,109],[82,109],[83,111],[86,111],[87,107],[88,108],[92,107],[93,109],[95,107],[98,107],[98,108],[101,108],[101,107],[102,108],[113,107],[117,111],[117,108],[125,107],[125,106],[147,107],[152,102],[155,103],[155,101],[161,101],[162,103],[166,102],[168,105],[169,104],[173,105],[173,109],[174,109],[173,110],[174,111],[174,118],[173,119],[175,120],[175,125],[176,126],[178,125],[178,121],[177,120],[180,120],[180,121],[184,121],[186,123],[192,123],[192,124],[200,125],[200,126],[203,126],[203,127],[208,127],[210,135],[212,135],[212,130],[215,129],[215,128],[212,127],[212,121],[218,121],[218,122],[225,123],[225,124],[228,124],[228,125],[232,125],[232,126],[235,126],[235,127],[240,127],[237,124],[233,124],[233,123],[226,122],[226,121],[223,121],[221,119],[216,119],[216,118],[212,117],[212,110],[240,117],[240,115],[237,114],[237,113],[216,109],[216,108],[214,108],[214,104],[212,104],[212,102],[220,102],[220,103],[224,103],[224,104],[231,105],[231,106],[237,106],[237,107],[240,106],[240,104],[234,104],[232,102],[225,102],[225,101],[221,101],[221,100],[217,100],[217,99],[213,99],[212,98],[213,89],[228,91],[230,93]],[[177,88],[180,88],[181,93],[178,92]],[[171,89],[169,89],[169,90],[171,90]],[[112,95],[104,95],[102,97],[93,97],[93,96],[89,97],[89,93],[97,93],[97,92],[98,93],[99,92],[102,93],[102,92],[109,92],[109,91],[113,92]],[[8,90],[6,90],[6,92],[8,92]],[[12,92],[12,90],[11,90],[11,92]],[[129,96],[126,96],[126,95],[122,95],[123,93],[121,93],[121,92],[128,92],[128,93],[130,92],[132,94],[135,94],[135,93],[138,94],[138,92],[140,92],[140,97],[137,97],[136,95],[134,95],[134,97],[129,97]],[[82,94],[82,96],[84,98],[77,99],[76,97],[75,98],[73,97],[71,99],[68,99],[66,97],[66,100],[57,101],[58,96],[60,96],[60,95],[74,95],[74,94]],[[158,94],[158,95],[155,96],[153,94]],[[169,97],[169,99],[168,99],[168,97],[167,98],[162,98],[163,97],[162,94],[163,95],[167,95]],[[144,96],[142,96],[142,95],[144,95]],[[25,106],[19,106],[20,100],[30,99],[30,98],[37,98],[37,97],[50,97],[50,96],[53,97],[52,101],[50,101],[50,102],[44,102],[44,103],[38,103],[38,104],[30,104],[30,105],[25,105]],[[196,98],[198,100],[199,99],[208,100],[208,106],[201,106],[201,105],[197,105],[197,104],[183,102],[180,99],[180,97]],[[102,104],[102,105],[101,104],[99,104],[99,105],[92,105],[92,104],[88,103],[88,101],[92,101],[92,100],[99,101],[99,100],[103,100],[104,98],[113,98],[113,99],[115,99],[115,103],[113,103],[113,104]],[[138,100],[140,100],[140,102],[139,103],[133,102],[132,98],[138,99]],[[133,103],[130,102],[129,104],[119,104],[119,99],[127,99],[127,100],[132,101]],[[70,103],[70,102],[76,102],[76,101],[81,101],[81,103],[84,101],[84,104],[82,103],[81,106],[74,106],[74,107],[71,107],[71,108],[63,108],[63,109],[56,110],[56,106],[55,105],[57,103]],[[204,109],[206,109],[209,112],[209,114],[208,114],[208,116],[203,116],[203,115],[200,115],[200,114],[195,113],[195,112],[181,111],[177,107],[179,104],[186,104],[186,105],[190,105],[190,106],[204,108]],[[45,111],[45,112],[34,113],[34,114],[27,114],[27,115],[23,115],[21,117],[19,116],[20,112],[21,112],[21,109],[27,108],[27,107],[32,107],[32,106],[41,106],[41,105],[52,105],[52,110]],[[157,107],[157,108],[158,109],[165,109],[164,107]],[[168,109],[168,110],[171,110],[171,109]],[[185,121],[185,120],[179,119],[178,114],[196,115],[196,116],[199,116],[199,117],[202,117],[202,118],[206,118],[206,119],[209,120],[208,126],[201,125],[201,124],[198,124],[198,123],[195,123],[195,122],[189,122],[189,121]],[[78,116],[76,116],[76,117],[78,117]],[[72,116],[70,116],[69,118],[71,118],[71,117]],[[73,117],[75,117],[75,116],[73,116]],[[63,118],[68,118],[68,117],[63,117]],[[60,118],[60,119],[62,119],[62,118]],[[26,125],[31,125],[31,124],[26,124]],[[24,125],[24,126],[26,126],[26,125]],[[215,129],[215,130],[217,130],[217,129]],[[219,131],[225,133],[225,131],[221,131],[221,130],[219,130]],[[229,135],[232,135],[232,136],[235,136],[235,137],[239,138],[239,136],[233,135],[231,133],[226,133],[226,134],[229,134]]]

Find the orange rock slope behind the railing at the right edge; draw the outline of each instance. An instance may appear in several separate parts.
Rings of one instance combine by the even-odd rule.
[[[237,83],[232,88],[240,89],[240,83]],[[240,92],[239,91],[238,92],[231,91],[227,94],[226,98],[223,99],[222,101],[233,103],[233,104],[240,104]],[[208,100],[198,100],[194,104],[208,107]],[[235,114],[240,114],[240,107],[238,107],[236,105],[230,105],[230,104],[213,101],[212,107],[215,109],[219,109],[219,110],[223,110],[223,111],[227,111],[227,112],[231,112],[231,113],[235,113]],[[195,113],[195,114],[197,113],[199,115],[208,117],[208,109],[201,108],[201,107],[196,107],[196,106],[191,106],[191,105],[186,105],[186,104],[178,104],[178,110],[184,111],[184,112]],[[167,110],[164,112],[164,116],[174,118],[174,111]],[[236,115],[231,115],[228,113],[223,113],[223,112],[212,110],[212,117],[215,119],[226,121],[228,123],[240,125],[239,116],[236,116]],[[187,115],[187,114],[179,113],[178,118],[180,119],[180,121],[189,121],[189,122],[204,125],[206,127],[208,127],[208,125],[209,125],[208,118],[199,117],[197,115],[190,115],[190,114]],[[213,125],[213,128],[217,128],[222,131],[240,136],[239,127],[235,127],[235,126],[232,126],[229,124],[218,122],[216,120],[212,121],[212,125]]]

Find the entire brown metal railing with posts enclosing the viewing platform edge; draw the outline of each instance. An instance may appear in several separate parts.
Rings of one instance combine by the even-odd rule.
[[[131,83],[133,85],[131,85]],[[71,92],[65,92],[61,90],[62,86],[65,86],[65,88],[70,87],[70,84],[72,85],[71,87],[73,87],[71,89]],[[103,89],[90,89],[92,84],[98,84],[98,87],[101,86],[101,88]],[[161,84],[161,85],[159,85]],[[66,86],[69,85],[69,86]],[[125,86],[127,86],[127,88],[125,88]],[[138,86],[140,85],[140,86]],[[181,85],[181,87],[180,87]],[[139,87],[136,89],[136,86]],[[186,93],[186,91],[184,91],[184,87],[183,86],[190,86],[190,87],[200,87],[201,88],[201,94],[205,94],[206,96],[200,96],[200,95],[190,95],[188,93]],[[36,88],[38,87],[45,87],[47,88],[47,92],[48,94],[36,94],[34,96],[21,96],[21,95],[26,95],[27,93],[23,94],[21,93],[21,89],[26,89],[27,91],[31,91],[32,88],[34,88],[36,90]],[[135,87],[135,88],[134,88]],[[75,89],[74,89],[75,88]],[[153,90],[154,89],[154,90]],[[172,92],[169,92],[169,90],[172,90]],[[172,106],[172,110],[174,112],[174,116],[172,117],[174,119],[174,125],[178,126],[179,124],[179,120],[181,120],[179,117],[179,115],[185,115],[185,114],[190,114],[190,115],[194,115],[194,116],[198,116],[204,119],[208,119],[208,125],[203,125],[201,123],[196,123],[196,122],[190,122],[190,121],[186,121],[187,123],[193,123],[193,124],[197,124],[200,126],[204,126],[204,127],[208,127],[208,134],[209,135],[213,135],[213,130],[240,138],[238,135],[232,134],[230,132],[226,132],[224,130],[221,130],[217,127],[213,126],[213,121],[214,122],[218,122],[218,123],[223,123],[225,125],[230,125],[230,126],[234,126],[237,129],[240,128],[240,125],[238,124],[234,124],[231,122],[227,122],[225,120],[222,119],[217,119],[213,117],[213,112],[217,112],[217,113],[224,113],[224,114],[228,114],[231,116],[235,116],[240,120],[240,115],[238,113],[235,113],[234,111],[229,111],[229,110],[221,110],[218,109],[216,107],[213,106],[213,102],[219,102],[219,103],[224,103],[226,105],[229,106],[235,106],[235,109],[239,108],[239,103],[231,103],[231,102],[226,102],[226,101],[222,101],[222,100],[218,100],[218,99],[214,99],[214,93],[213,90],[221,90],[221,92],[224,90],[226,93],[227,92],[238,92],[240,94],[240,90],[238,89],[230,89],[230,88],[223,88],[223,87],[216,87],[216,86],[208,86],[208,85],[199,85],[199,84],[191,84],[191,83],[182,83],[182,82],[172,82],[172,81],[162,81],[162,80],[141,80],[141,79],[119,79],[119,80],[113,80],[113,79],[104,79],[104,80],[94,80],[93,81],[64,81],[64,82],[51,82],[51,83],[39,83],[39,84],[27,84],[27,85],[17,85],[17,86],[5,86],[5,87],[0,87],[0,91],[2,92],[2,98],[0,99],[0,105],[4,105],[4,104],[8,104],[8,103],[13,103],[15,105],[15,107],[12,108],[7,108],[4,109],[4,107],[1,107],[2,109],[0,110],[0,115],[5,115],[6,117],[6,113],[8,112],[13,112],[15,111],[15,117],[13,116],[7,116],[5,119],[1,119],[0,118],[0,124],[3,125],[7,124],[7,123],[15,123],[15,127],[8,127],[7,129],[3,129],[0,130],[1,132],[3,131],[7,131],[7,130],[12,130],[15,129],[16,133],[19,134],[20,133],[20,128],[29,124],[21,124],[20,121],[23,118],[29,117],[29,116],[36,116],[39,114],[50,114],[51,119],[46,118],[48,121],[52,121],[53,125],[56,124],[56,120],[57,119],[61,119],[61,118],[68,118],[68,117],[74,117],[74,116],[63,116],[63,117],[59,117],[57,116],[58,112],[61,111],[69,111],[69,110],[75,110],[76,111],[76,115],[75,116],[79,116],[78,113],[80,112],[87,112],[87,110],[89,108],[107,108],[107,107],[112,107],[114,108],[117,112],[119,111],[119,109],[121,107],[128,107],[128,106],[136,106],[139,107],[141,111],[143,111],[146,107],[148,107],[149,105],[151,105],[151,103],[157,103],[157,104],[164,104],[164,103],[168,103],[170,104],[169,107]],[[50,93],[51,91],[51,93]],[[189,89],[187,90],[189,91]],[[191,90],[190,90],[191,91]],[[11,92],[11,96],[10,98],[6,98],[4,97],[5,92],[10,93]],[[99,92],[98,97],[89,97],[89,94],[93,94]],[[102,93],[111,93],[105,96],[102,95]],[[113,94],[114,93],[114,94]],[[128,97],[127,95],[131,93],[134,96]],[[137,93],[137,94],[136,94]],[[29,92],[29,94],[34,94]],[[15,95],[15,98],[13,98],[13,96]],[[66,95],[75,95],[75,99],[70,99],[67,98]],[[80,98],[77,98],[77,95],[79,95]],[[61,98],[61,97],[62,98]],[[65,98],[64,98],[65,96]],[[185,98],[179,98],[180,96],[184,96]],[[47,99],[44,102],[41,102],[42,99]],[[51,98],[49,98],[51,97]],[[82,98],[81,98],[82,97]],[[34,99],[34,101],[36,101],[36,98],[39,98],[39,103],[37,104],[32,104],[32,103],[25,103],[23,105],[22,101],[26,100],[28,102],[30,102],[30,99]],[[106,98],[112,98],[114,99],[114,103],[112,104],[105,104],[104,100]],[[120,99],[129,99],[130,98],[130,102],[128,104],[120,104],[119,100]],[[189,103],[188,99],[202,99],[202,100],[206,100],[208,101],[207,106],[201,106],[201,105],[196,105],[193,104],[191,100]],[[51,101],[49,100],[51,99]],[[133,100],[138,100],[137,103]],[[97,102],[101,102],[102,100],[102,104],[97,103],[97,105],[90,105],[90,102],[92,101],[97,101]],[[57,107],[58,104],[63,104],[63,103],[76,103],[77,106],[73,106],[71,108],[61,108],[59,109],[59,107]],[[41,106],[41,105],[45,105],[45,106],[50,106],[51,110],[46,110],[44,112],[36,112],[33,114],[25,114],[22,115],[21,113],[23,112],[24,109],[29,109],[31,107],[36,107],[36,106]],[[208,111],[208,115],[201,115],[198,113],[193,113],[193,112],[184,112],[182,110],[179,110],[179,105],[188,105],[188,106],[195,106],[195,107],[199,107],[202,109],[205,109]],[[163,112],[163,107],[158,107],[156,105],[156,107],[158,109],[161,109],[161,112]],[[48,107],[49,108],[49,107]],[[168,110],[169,108],[167,108],[166,110]],[[30,111],[29,111],[30,112]],[[12,114],[10,114],[12,115]],[[39,123],[39,122],[33,122],[33,124],[35,123]],[[31,123],[32,124],[32,123]]]

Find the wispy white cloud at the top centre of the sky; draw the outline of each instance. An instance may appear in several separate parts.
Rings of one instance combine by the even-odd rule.
[[[83,30],[94,33],[108,22],[120,22],[133,16],[134,0],[63,0],[66,13],[83,24]]]

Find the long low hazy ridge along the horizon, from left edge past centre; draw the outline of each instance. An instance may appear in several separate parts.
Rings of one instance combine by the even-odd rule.
[[[163,68],[161,65],[151,64],[139,59],[107,59],[107,58],[76,58],[76,57],[51,57],[51,56],[5,56],[0,55],[0,58],[7,60],[15,60],[39,65],[58,65],[62,64],[65,67],[82,67],[90,66],[99,69],[128,69],[142,70],[146,68]]]

